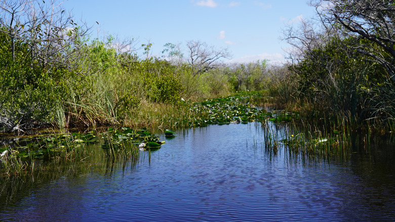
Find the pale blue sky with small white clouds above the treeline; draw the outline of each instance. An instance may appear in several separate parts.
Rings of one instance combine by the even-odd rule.
[[[139,45],[149,41],[156,56],[166,43],[185,49],[186,41],[199,40],[227,47],[230,62],[284,60],[289,45],[280,40],[282,29],[314,16],[306,0],[68,0],[64,8],[92,25],[95,38],[99,30],[99,38],[111,34],[138,39]]]

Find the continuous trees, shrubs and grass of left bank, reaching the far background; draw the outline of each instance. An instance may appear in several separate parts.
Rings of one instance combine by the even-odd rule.
[[[173,44],[164,46],[162,57],[149,56],[152,45],[142,44],[139,57],[133,50],[117,50],[119,43],[111,36],[92,40],[87,28],[72,18],[48,21],[43,11],[41,24],[33,24],[18,10],[31,13],[47,6],[35,2],[26,8],[24,3],[2,6],[6,15],[0,27],[3,131],[21,133],[43,124],[165,127],[171,117],[193,115],[182,101],[266,87],[265,61],[224,66],[217,60],[229,55],[226,49],[195,41],[188,42],[190,53],[196,54],[193,61],[184,60]],[[68,26],[60,29],[58,23]]]

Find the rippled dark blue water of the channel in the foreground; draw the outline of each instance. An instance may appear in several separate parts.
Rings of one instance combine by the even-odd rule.
[[[178,131],[135,160],[2,180],[0,220],[395,220],[393,145],[323,159],[273,154],[261,142],[259,124],[213,125]]]

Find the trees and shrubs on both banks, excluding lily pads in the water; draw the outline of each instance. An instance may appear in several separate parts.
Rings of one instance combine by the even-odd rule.
[[[142,44],[139,56],[124,50],[131,44],[120,47],[111,36],[92,39],[87,26],[61,8],[49,11],[49,3],[3,2],[2,131],[21,133],[48,124],[189,127],[199,114],[188,100],[246,90],[264,90],[272,97],[268,103],[329,119],[326,123],[393,128],[391,1],[329,1],[332,8],[319,7],[328,1],[314,2],[322,23],[303,21],[298,31],[286,32],[284,39],[298,51],[291,55],[293,63],[283,66],[221,63],[230,53],[199,41],[187,43],[187,56],[173,44],[164,46],[162,57],[150,56],[150,43]],[[174,119],[180,120],[177,125]]]

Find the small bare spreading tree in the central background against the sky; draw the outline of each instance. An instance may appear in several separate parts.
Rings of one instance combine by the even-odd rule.
[[[187,61],[193,68],[193,76],[216,67],[221,58],[231,58],[227,48],[216,49],[201,41],[188,41],[186,46],[189,50]]]

